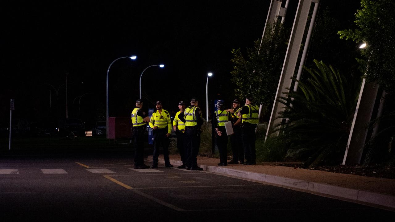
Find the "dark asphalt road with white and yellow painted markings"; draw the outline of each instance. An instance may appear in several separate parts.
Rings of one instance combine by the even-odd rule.
[[[163,165],[135,170],[131,153],[111,152],[0,156],[0,212],[5,222],[390,221],[395,216],[204,171]]]

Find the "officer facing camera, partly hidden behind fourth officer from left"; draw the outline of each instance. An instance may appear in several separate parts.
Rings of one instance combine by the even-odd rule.
[[[180,111],[178,111],[175,114],[174,120],[173,120],[173,128],[174,128],[174,132],[175,135],[177,136],[177,148],[180,152],[180,156],[181,156],[181,161],[182,161],[182,165],[178,166],[177,168],[179,169],[184,169],[185,168],[185,164],[186,164],[186,150],[185,150],[185,119],[184,121],[182,121],[178,116],[184,116],[184,111],[185,111],[185,103],[183,101],[180,101],[178,103],[178,108],[180,109]]]

